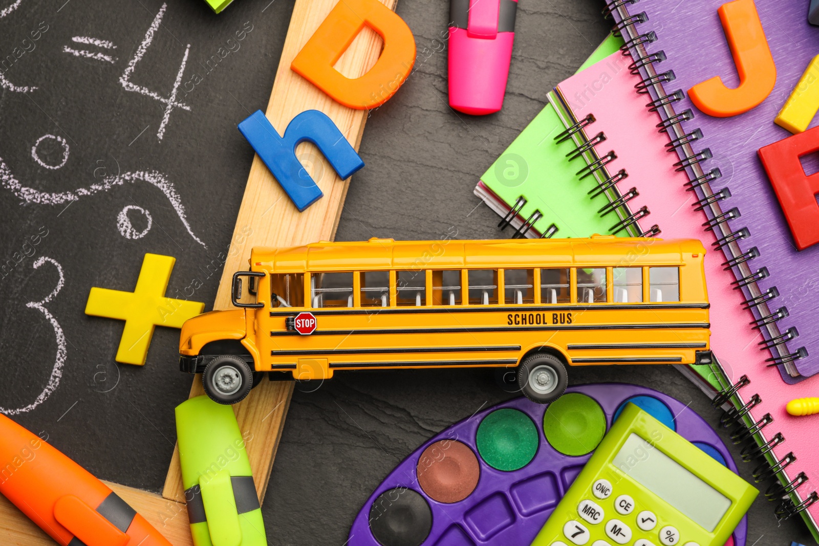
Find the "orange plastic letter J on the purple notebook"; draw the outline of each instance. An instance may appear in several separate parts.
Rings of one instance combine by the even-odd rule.
[[[740,85],[726,88],[722,79],[714,76],[690,88],[688,96],[706,114],[727,118],[759,106],[771,94],[776,66],[753,0],[727,2],[717,12],[740,74]]]

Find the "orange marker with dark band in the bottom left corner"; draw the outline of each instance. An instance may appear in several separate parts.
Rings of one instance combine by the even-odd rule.
[[[171,546],[102,481],[4,415],[0,493],[62,546]]]

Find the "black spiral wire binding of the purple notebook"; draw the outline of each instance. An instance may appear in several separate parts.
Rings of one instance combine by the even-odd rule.
[[[631,13],[631,7],[637,4],[635,11]],[[706,171],[702,163],[712,158],[711,151],[706,147],[696,150],[693,145],[703,137],[700,129],[683,129],[682,124],[693,120],[695,114],[690,109],[675,112],[674,104],[680,102],[684,97],[682,89],[667,89],[667,84],[675,80],[672,70],[660,69],[663,61],[666,61],[666,54],[662,48],[658,48],[658,33],[662,31],[646,30],[640,31],[649,17],[645,11],[639,9],[638,0],[606,0],[603,9],[604,16],[614,20],[613,34],[622,35],[624,44],[621,51],[624,55],[631,57],[631,64],[628,69],[632,74],[640,76],[640,83],[635,85],[637,93],[648,95],[652,100],[646,107],[649,111],[660,113],[661,121],[657,124],[660,133],[667,133],[670,141],[666,147],[667,151],[676,151],[680,160],[674,164],[678,171],[685,171],[689,176],[686,183],[686,190],[697,192],[699,197],[696,203],[696,210],[703,210],[708,218],[704,223],[706,231],[713,231],[717,237],[713,245],[716,250],[721,250],[726,255],[726,262],[723,267],[731,269],[738,279],[736,289],[743,291],[746,302],[752,302],[754,316],[759,318],[754,321],[754,326],[760,329],[763,336],[770,340],[763,349],[771,350],[773,355],[769,362],[773,366],[785,365],[786,368],[794,360],[803,359],[808,356],[808,351],[804,347],[789,352],[787,344],[793,342],[798,334],[785,336],[776,327],[776,321],[787,316],[787,309],[777,309],[771,313],[768,303],[773,299],[771,292],[762,292],[757,282],[767,277],[767,269],[758,269],[752,273],[749,267],[749,260],[757,258],[760,253],[756,247],[744,252],[740,249],[738,241],[749,237],[747,228],[731,228],[731,220],[740,218],[740,211],[731,208],[728,211],[721,209],[722,202],[731,197],[731,192],[726,188],[719,192],[712,192],[710,183],[716,178],[720,178],[722,173],[719,169]],[[656,51],[651,51],[654,48]],[[793,368],[788,369],[793,372]]]

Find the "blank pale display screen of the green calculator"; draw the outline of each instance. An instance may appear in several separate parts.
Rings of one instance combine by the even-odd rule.
[[[731,508],[725,495],[633,432],[613,465],[709,532]]]

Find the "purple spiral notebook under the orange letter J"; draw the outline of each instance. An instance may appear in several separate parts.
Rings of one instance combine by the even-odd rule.
[[[653,41],[632,40],[632,56],[639,59],[649,54],[654,56],[645,70],[653,69],[655,74],[672,70],[675,76],[661,85],[664,96],[681,90],[679,100],[671,97],[668,107],[680,114],[688,109],[693,111],[693,119],[682,121],[680,134],[695,129],[702,131],[702,138],[690,143],[694,154],[706,149],[711,157],[696,156],[690,163],[699,166],[701,173],[719,169],[721,178],[710,180],[713,192],[728,187],[731,196],[719,205],[722,213],[729,213],[723,233],[735,233],[747,228],[749,236],[736,241],[742,257],[747,252],[758,257],[744,262],[743,278],[767,268],[769,275],[757,278],[758,292],[746,296],[761,295],[759,305],[754,305],[755,316],[776,319],[786,316],[762,328],[763,334],[778,351],[773,363],[780,364],[783,378],[794,382],[799,374],[803,377],[819,372],[819,314],[816,311],[816,291],[819,278],[815,268],[819,266],[819,245],[806,250],[796,250],[790,228],[773,192],[767,174],[757,156],[760,147],[778,142],[790,136],[773,120],[794,86],[808,67],[808,62],[819,53],[819,27],[808,24],[808,2],[802,0],[757,0],[756,7],[762,21],[762,29],[767,37],[776,64],[776,87],[767,99],[751,111],[729,118],[717,118],[699,111],[688,97],[688,90],[697,83],[720,76],[728,88],[739,83],[735,63],[728,47],[722,23],[717,14],[725,0],[620,0],[609,2],[614,8],[614,20],[623,29],[623,38],[629,40],[637,36],[655,38]],[[640,16],[645,13],[646,17]],[[626,19],[624,21],[624,18]],[[654,33],[652,36],[651,33]],[[632,35],[633,34],[633,35]],[[644,42],[642,44],[637,42]],[[643,52],[639,48],[645,47]],[[664,57],[664,58],[663,58]],[[661,98],[652,89],[646,102]],[[661,111],[663,115],[663,111]],[[663,115],[663,119],[667,119]],[[811,127],[816,125],[812,121]],[[685,156],[682,156],[685,157]],[[807,158],[805,158],[807,159]],[[689,169],[690,170],[690,169]],[[695,178],[695,175],[691,175]],[[737,210],[739,217],[731,218]],[[713,217],[713,215],[712,215]],[[760,273],[758,277],[761,277]],[[776,287],[774,291],[771,291]],[[776,295],[778,293],[778,296]],[[797,328],[798,336],[789,329]],[[776,339],[778,336],[784,336]]]

